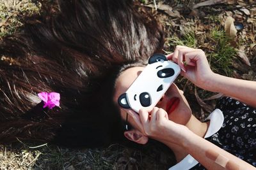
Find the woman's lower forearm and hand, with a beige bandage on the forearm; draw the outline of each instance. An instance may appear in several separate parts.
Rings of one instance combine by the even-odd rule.
[[[197,136],[186,126],[175,124],[168,119],[166,111],[161,108],[155,107],[150,112],[151,114],[145,110],[140,110],[139,115],[132,111],[128,111],[128,113],[139,124],[139,127],[142,127],[143,134],[161,141],[167,146],[170,144],[181,146],[186,153],[198,160],[207,169],[255,169],[247,162]],[[151,116],[149,117],[149,115]]]

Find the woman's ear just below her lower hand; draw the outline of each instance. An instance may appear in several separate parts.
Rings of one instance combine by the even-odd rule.
[[[134,141],[143,145],[148,142],[148,137],[136,129],[132,129],[131,131],[125,131],[124,136],[130,141]]]

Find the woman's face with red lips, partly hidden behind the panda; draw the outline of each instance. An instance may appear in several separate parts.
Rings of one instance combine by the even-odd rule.
[[[118,76],[114,96],[116,104],[118,97],[131,86],[143,69],[144,67],[131,67]],[[186,125],[191,117],[188,101],[183,96],[183,91],[179,90],[174,83],[166,91],[156,107],[163,108],[168,113],[169,119],[178,124]],[[125,120],[127,111],[120,106],[119,108],[121,116]],[[128,121],[133,127],[137,127],[132,117],[128,117]]]

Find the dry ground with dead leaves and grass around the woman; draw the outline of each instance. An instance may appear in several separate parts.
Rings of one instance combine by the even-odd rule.
[[[54,0],[42,2],[55,5]],[[164,25],[164,52],[172,52],[176,45],[201,48],[214,72],[255,81],[256,3],[254,0],[216,2],[141,0],[135,4],[142,14],[150,11]],[[42,4],[38,1],[0,0],[0,39],[19,32],[24,16],[41,12]],[[196,88],[182,77],[176,83],[200,119],[207,116],[220,97]],[[175,164],[172,152],[156,143],[140,150],[121,145],[70,149],[22,141],[17,145],[0,145],[0,169],[167,169],[172,164]]]

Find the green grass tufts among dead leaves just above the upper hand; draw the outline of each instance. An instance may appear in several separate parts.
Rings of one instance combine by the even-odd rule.
[[[216,19],[215,19],[216,20]],[[189,46],[191,48],[203,48],[208,57],[212,71],[226,76],[232,76],[234,71],[232,61],[236,59],[237,51],[230,43],[230,38],[225,31],[218,26],[212,27],[212,31],[205,32],[205,46],[198,46],[200,36],[196,36],[195,29],[184,29],[180,37],[176,34],[167,38],[167,45],[174,50],[177,45]]]

